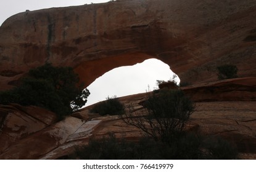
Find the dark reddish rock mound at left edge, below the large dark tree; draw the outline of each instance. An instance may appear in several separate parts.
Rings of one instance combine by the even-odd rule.
[[[35,106],[0,106],[0,152],[56,122],[56,115]]]

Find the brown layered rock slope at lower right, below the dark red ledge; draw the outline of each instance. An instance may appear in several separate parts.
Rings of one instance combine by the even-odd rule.
[[[256,106],[249,101],[198,103],[191,115],[206,135],[223,136],[239,152],[256,154]]]

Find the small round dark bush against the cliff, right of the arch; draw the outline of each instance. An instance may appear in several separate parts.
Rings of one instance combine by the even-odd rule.
[[[234,65],[222,65],[218,66],[218,79],[231,79],[237,77],[237,67]]]

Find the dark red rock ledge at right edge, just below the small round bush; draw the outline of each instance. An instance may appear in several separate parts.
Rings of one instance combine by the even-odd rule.
[[[220,80],[182,89],[197,102],[256,101],[256,77]]]

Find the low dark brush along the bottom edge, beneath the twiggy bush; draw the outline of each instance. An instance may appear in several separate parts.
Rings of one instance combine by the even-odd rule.
[[[138,143],[109,138],[93,139],[86,146],[76,147],[70,158],[79,159],[168,159],[170,147],[165,143],[155,142],[150,138],[142,138]]]

